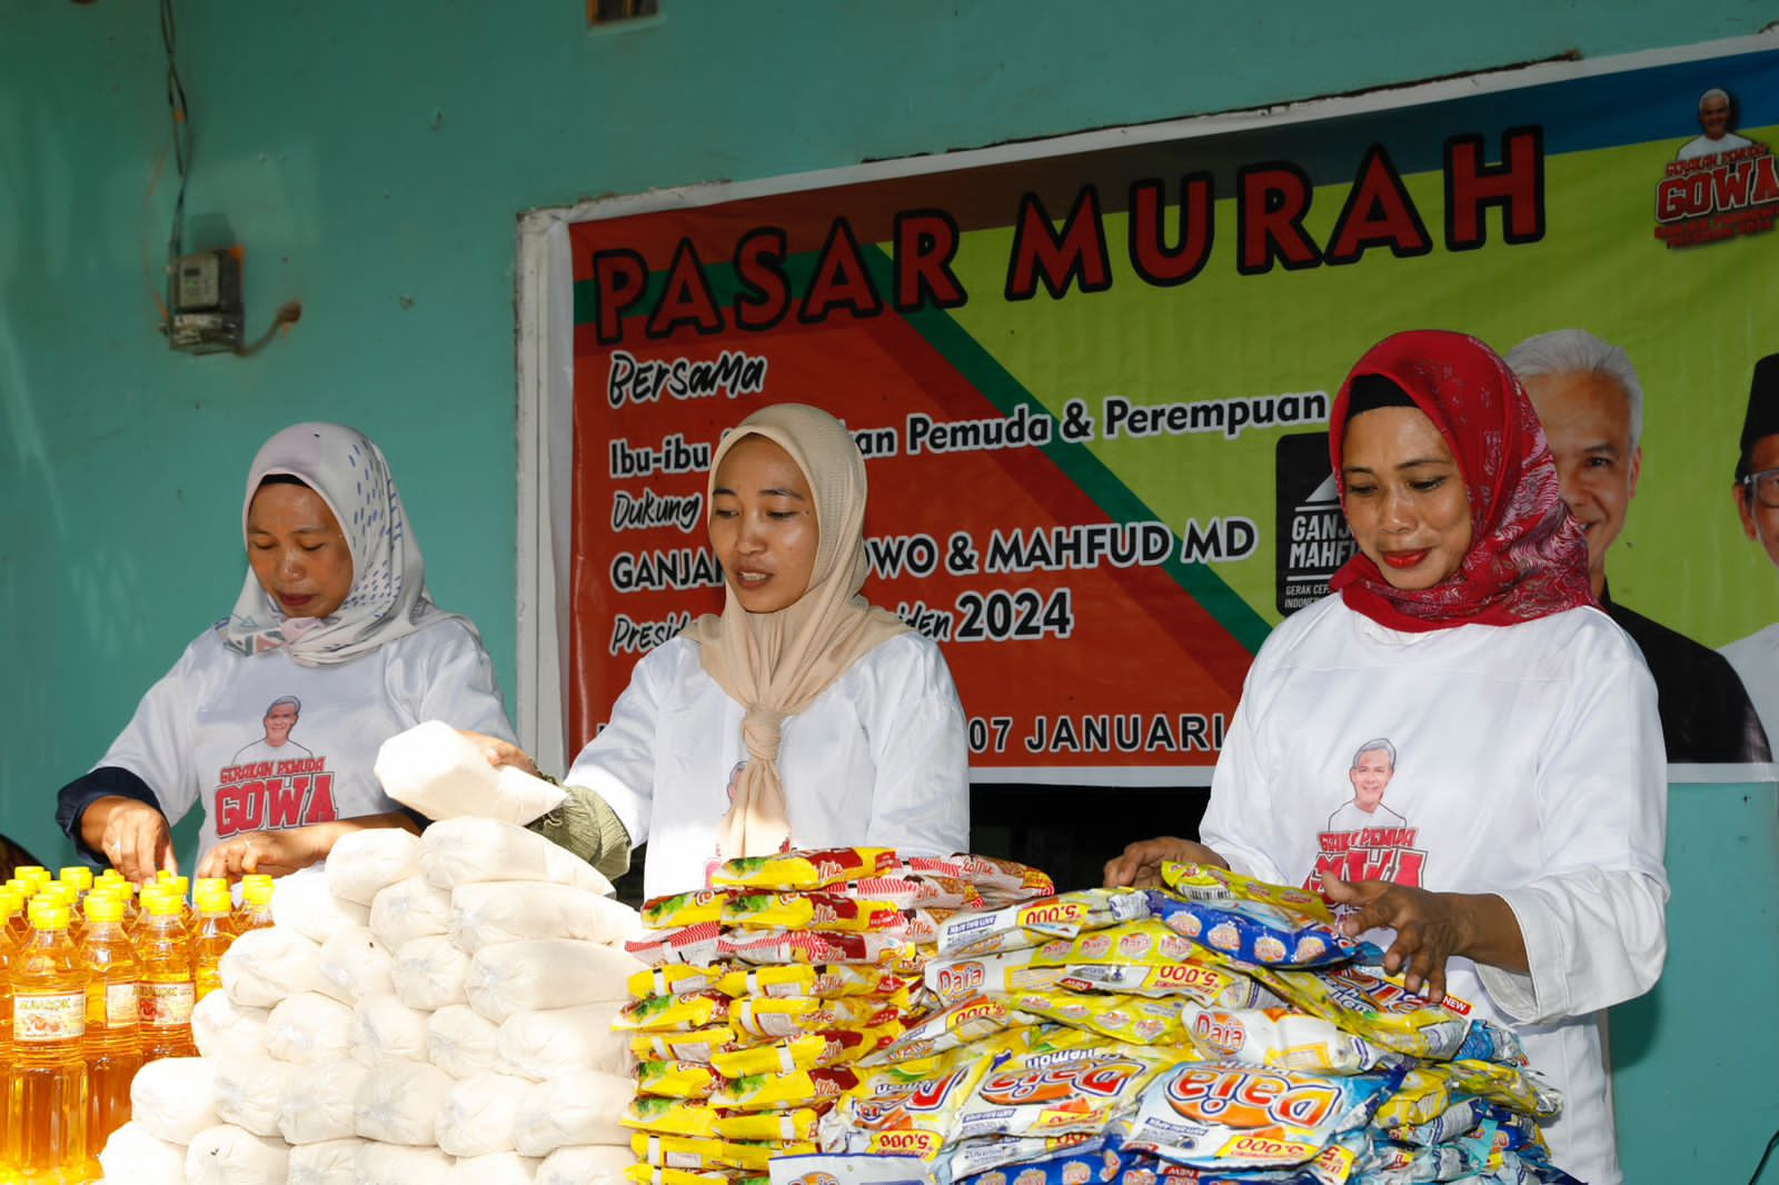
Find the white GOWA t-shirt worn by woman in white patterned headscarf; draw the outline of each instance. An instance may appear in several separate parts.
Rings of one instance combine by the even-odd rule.
[[[301,701],[286,742],[267,742],[272,701]],[[495,667],[461,621],[439,619],[368,655],[297,665],[244,657],[215,630],[197,635],[142,697],[100,765],[149,785],[169,822],[203,802],[199,849],[240,831],[398,810],[372,774],[377,747],[420,721],[512,740]]]

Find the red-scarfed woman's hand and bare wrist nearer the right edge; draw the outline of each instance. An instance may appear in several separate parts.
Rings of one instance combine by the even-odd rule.
[[[1397,941],[1384,952],[1384,970],[1404,971],[1402,986],[1432,1004],[1445,1000],[1445,964],[1452,955],[1526,971],[1519,920],[1494,893],[1434,893],[1389,881],[1341,881],[1324,872],[1322,895],[1354,909],[1341,922],[1348,938],[1379,927],[1397,931]]]

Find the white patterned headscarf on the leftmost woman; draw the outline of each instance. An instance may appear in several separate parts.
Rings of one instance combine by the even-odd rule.
[[[276,473],[295,477],[333,511],[352,552],[352,591],[326,617],[285,617],[249,569],[235,612],[217,625],[229,649],[256,655],[283,646],[292,662],[315,667],[350,662],[439,621],[455,619],[475,630],[427,594],[420,543],[407,527],[390,464],[368,436],[338,423],[292,423],[265,441],[247,470],[247,496],[240,505],[244,543],[253,495]]]

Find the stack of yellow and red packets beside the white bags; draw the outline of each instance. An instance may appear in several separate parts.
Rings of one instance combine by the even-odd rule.
[[[930,1011],[922,986],[959,909],[1053,891],[1023,865],[890,849],[731,859],[712,891],[651,900],[617,1025],[639,1059],[624,1112],[637,1185],[751,1181],[817,1149],[857,1062]]]

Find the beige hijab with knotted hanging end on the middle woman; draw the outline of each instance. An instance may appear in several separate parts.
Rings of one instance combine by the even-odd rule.
[[[792,834],[779,779],[777,747],[785,717],[797,715],[866,651],[907,625],[859,596],[865,559],[865,457],[845,425],[817,407],[777,404],[740,422],[710,461],[710,512],[717,466],[737,441],[763,436],[790,454],[815,495],[817,550],[809,587],[788,609],[751,614],[724,585],[722,614],[704,614],[687,637],[697,642],[704,673],[747,708],[742,746],[747,763],[735,778],[729,813],[717,829],[717,852],[760,856]]]

